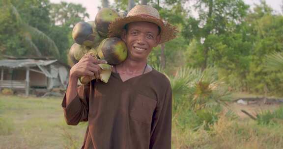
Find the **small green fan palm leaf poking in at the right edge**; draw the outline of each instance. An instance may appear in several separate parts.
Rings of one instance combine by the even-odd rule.
[[[274,52],[270,55],[267,55],[265,68],[269,71],[283,70],[283,53]]]

